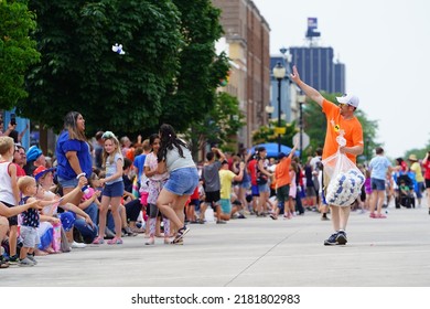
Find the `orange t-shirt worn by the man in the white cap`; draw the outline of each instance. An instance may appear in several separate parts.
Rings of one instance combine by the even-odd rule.
[[[337,151],[338,143],[336,141],[336,137],[341,131],[344,131],[346,147],[364,145],[362,124],[359,124],[356,117],[344,119],[343,116],[341,116],[341,108],[326,99],[322,103],[322,110],[327,119],[327,129],[325,134],[322,159],[325,159]],[[354,154],[346,153],[346,156],[351,161],[354,163],[356,162]]]

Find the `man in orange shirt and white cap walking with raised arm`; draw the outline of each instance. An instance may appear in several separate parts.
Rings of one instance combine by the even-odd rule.
[[[345,153],[355,163],[356,156],[362,154],[364,149],[363,128],[358,119],[354,116],[354,111],[357,109],[359,103],[358,97],[354,95],[337,97],[340,105],[336,106],[326,100],[316,89],[301,81],[295,66],[293,66],[291,79],[309,98],[316,102],[325,114],[327,127],[322,159],[334,154],[340,149],[341,153]],[[338,136],[343,136],[346,140],[345,146],[340,147],[336,141],[336,137]],[[324,189],[326,189],[329,183],[330,179],[324,174]],[[345,228],[350,217],[351,206],[330,205],[330,209],[332,211],[334,234],[324,241],[324,245],[345,245],[347,242]]]

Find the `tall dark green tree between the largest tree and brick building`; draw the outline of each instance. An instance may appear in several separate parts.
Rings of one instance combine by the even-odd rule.
[[[222,35],[221,11],[209,0],[173,0],[181,11],[181,50],[179,76],[163,99],[161,121],[180,131],[201,122],[216,104],[215,90],[226,77],[229,65],[223,53],[216,55],[215,41]],[[180,116],[180,117],[179,117]]]

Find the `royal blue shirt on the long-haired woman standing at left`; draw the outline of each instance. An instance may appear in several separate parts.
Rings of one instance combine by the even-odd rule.
[[[76,178],[77,174],[72,169],[71,163],[66,158],[68,151],[76,151],[82,171],[85,172],[87,177],[90,177],[93,172],[93,159],[92,153],[89,152],[89,146],[86,141],[69,139],[67,130],[63,130],[56,141],[55,157],[58,164],[56,174],[64,180]]]

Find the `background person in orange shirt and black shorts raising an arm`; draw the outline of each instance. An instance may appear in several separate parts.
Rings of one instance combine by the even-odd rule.
[[[290,182],[291,182],[290,166],[295,149],[297,149],[297,145],[294,145],[294,147],[291,149],[291,152],[288,157],[283,152],[280,152],[278,156],[279,162],[275,169],[275,182],[277,185],[278,206],[276,207],[275,213],[270,215],[272,220],[278,219],[280,206],[283,206],[284,212],[287,212],[288,209],[288,199],[290,196]]]

